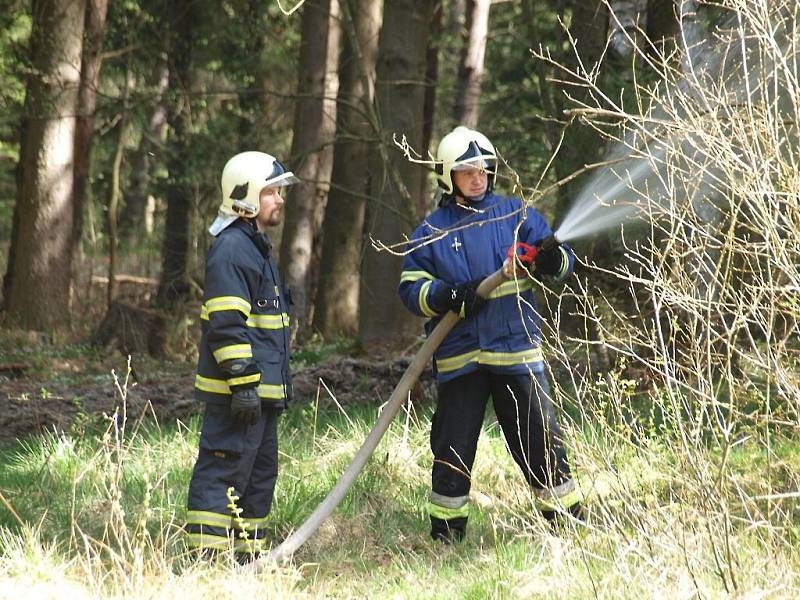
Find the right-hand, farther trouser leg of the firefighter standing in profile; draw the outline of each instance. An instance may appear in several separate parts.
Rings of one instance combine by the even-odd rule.
[[[250,540],[261,540],[267,515],[272,509],[275,483],[278,480],[278,417],[281,411],[265,409],[264,432],[258,448],[250,481],[242,495],[240,506]]]

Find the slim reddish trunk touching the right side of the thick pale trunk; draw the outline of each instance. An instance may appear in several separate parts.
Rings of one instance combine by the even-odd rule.
[[[92,137],[94,133],[94,111],[97,106],[97,88],[100,83],[100,67],[103,37],[106,30],[108,0],[87,0],[86,3],[86,49],[81,64],[80,108],[75,123],[75,180],[72,183],[73,245],[78,246],[83,232],[83,207],[89,192],[89,170],[92,160]]]

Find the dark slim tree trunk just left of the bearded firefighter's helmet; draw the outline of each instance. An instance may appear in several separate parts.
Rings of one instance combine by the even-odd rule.
[[[169,89],[171,102],[168,121],[171,127],[167,144],[167,217],[161,254],[161,279],[156,303],[169,308],[185,299],[188,291],[186,257],[189,244],[189,215],[191,209],[191,165],[189,105],[191,102],[191,48],[193,38],[193,5],[170,2]]]

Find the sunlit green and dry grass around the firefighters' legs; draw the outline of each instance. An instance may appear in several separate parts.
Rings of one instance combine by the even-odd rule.
[[[325,496],[374,407],[297,406],[281,420],[277,542]],[[199,421],[47,434],[0,454],[0,597],[793,597],[800,447],[755,434],[681,451],[678,436],[569,428],[589,527],[554,535],[490,414],[464,543],[428,536],[430,407],[392,425],[334,515],[287,566],[195,562],[181,524]],[[635,438],[635,439],[634,439]],[[715,483],[714,476],[723,476]]]

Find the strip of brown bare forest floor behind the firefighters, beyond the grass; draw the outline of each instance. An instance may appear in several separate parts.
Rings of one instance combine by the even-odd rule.
[[[117,356],[116,362],[122,359]],[[0,443],[43,431],[70,431],[112,415],[122,405],[123,394],[129,416],[150,413],[159,423],[186,420],[202,412],[194,400],[194,365],[169,364],[154,368],[132,368],[127,383],[127,364],[122,361],[116,376],[110,369],[98,372],[93,361],[86,369],[82,361],[51,361],[47,369],[24,362],[0,364]],[[112,361],[113,362],[113,361]],[[295,368],[294,402],[307,404],[374,404],[386,402],[410,363],[410,357],[366,360],[343,356]],[[28,374],[27,371],[33,371]],[[413,397],[430,398],[432,377],[423,373]]]

